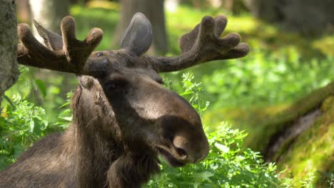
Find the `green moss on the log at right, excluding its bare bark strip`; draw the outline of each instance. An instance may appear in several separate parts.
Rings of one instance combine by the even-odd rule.
[[[248,144],[255,150],[263,151],[270,137],[292,125],[298,117],[317,108],[321,109],[322,114],[314,125],[297,138],[285,140],[275,156],[279,158],[280,169],[288,167],[295,187],[301,186],[300,180],[305,179],[308,172],[315,172],[314,186],[325,187],[328,183],[325,179],[334,173],[334,82],[313,91],[282,113],[267,118],[262,124],[253,125],[255,131],[252,132],[256,134],[248,136]]]

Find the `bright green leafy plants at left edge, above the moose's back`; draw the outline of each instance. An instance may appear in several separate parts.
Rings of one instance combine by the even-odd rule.
[[[10,103],[0,116],[0,169],[43,137],[49,126],[43,108],[28,103],[20,95],[14,95]]]

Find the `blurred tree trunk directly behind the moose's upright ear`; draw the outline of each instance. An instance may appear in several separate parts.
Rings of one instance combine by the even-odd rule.
[[[166,53],[167,36],[163,0],[121,0],[121,7],[121,20],[118,22],[113,45],[119,45],[133,14],[141,12],[145,14],[152,24],[153,46],[151,46],[149,53]]]

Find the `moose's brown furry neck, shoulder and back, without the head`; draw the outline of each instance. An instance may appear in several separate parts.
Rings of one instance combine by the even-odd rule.
[[[145,145],[139,153],[129,150],[121,133],[116,133],[119,127],[103,117],[112,115],[103,109],[108,108],[106,101],[98,97],[91,101],[103,113],[92,117],[91,111],[84,110],[90,102],[82,105],[82,93],[83,88],[78,88],[74,95],[74,122],[69,130],[49,135],[24,152],[0,172],[0,187],[140,187],[158,172],[156,153]],[[106,134],[102,123],[111,126],[108,132],[114,131]]]

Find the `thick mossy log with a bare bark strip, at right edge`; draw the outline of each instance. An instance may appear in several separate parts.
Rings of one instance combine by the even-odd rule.
[[[296,187],[314,172],[316,187],[334,181],[334,82],[268,118],[251,146],[265,160],[288,167]],[[297,180],[298,179],[298,180]]]

